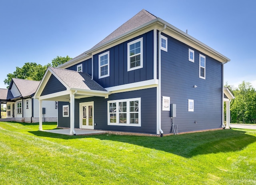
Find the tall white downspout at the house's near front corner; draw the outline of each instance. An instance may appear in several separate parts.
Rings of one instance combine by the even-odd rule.
[[[161,137],[164,133],[161,129],[161,33],[165,29],[166,24],[164,28],[158,32],[158,129],[161,133]]]

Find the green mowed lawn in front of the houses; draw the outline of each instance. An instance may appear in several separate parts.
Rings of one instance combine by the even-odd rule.
[[[255,172],[256,130],[68,136],[38,131],[38,123],[0,122],[3,185],[255,185]]]

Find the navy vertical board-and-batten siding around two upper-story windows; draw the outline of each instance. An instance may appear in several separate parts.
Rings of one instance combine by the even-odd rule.
[[[127,44],[143,38],[143,68],[127,71]],[[154,33],[147,32],[141,36],[118,44],[108,50],[104,50],[93,56],[93,79],[103,88],[152,80],[154,78]],[[104,52],[110,52],[110,76],[98,78],[98,56]]]

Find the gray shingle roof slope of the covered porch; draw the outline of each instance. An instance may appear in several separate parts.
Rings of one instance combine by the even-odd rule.
[[[82,90],[107,91],[87,73],[49,67],[68,87]]]

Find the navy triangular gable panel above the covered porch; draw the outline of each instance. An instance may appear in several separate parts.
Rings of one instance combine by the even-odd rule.
[[[66,87],[54,75],[51,75],[41,96],[65,90],[67,90]]]

